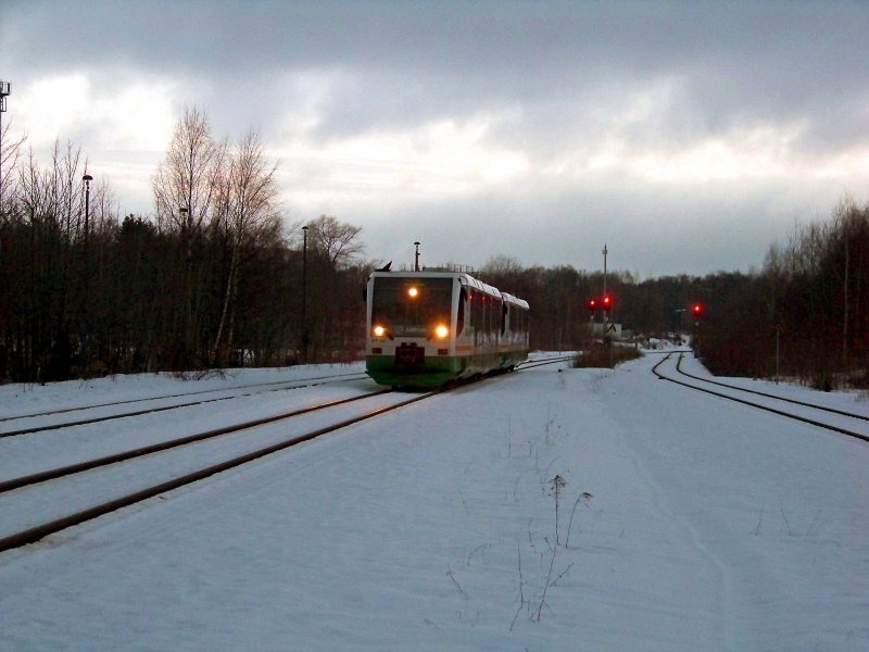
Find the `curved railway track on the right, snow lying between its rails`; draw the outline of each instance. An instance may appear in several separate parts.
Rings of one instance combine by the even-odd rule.
[[[652,373],[662,380],[668,380],[682,387],[688,387],[696,391],[702,391],[743,405],[748,405],[757,410],[778,414],[804,424],[809,424],[831,430],[862,441],[869,441],[869,416],[839,410],[829,405],[821,405],[807,401],[801,401],[788,397],[778,396],[771,392],[764,392],[754,389],[746,389],[703,378],[682,369],[682,359],[684,354],[679,353],[675,372],[678,377],[667,375],[662,368],[671,361],[673,353],[666,355],[652,367]]]

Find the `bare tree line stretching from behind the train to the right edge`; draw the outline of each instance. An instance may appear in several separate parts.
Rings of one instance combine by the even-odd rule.
[[[534,347],[580,349],[602,338],[590,329],[601,313],[585,309],[602,293],[601,273],[522,268],[506,256],[492,259],[482,273],[488,283],[530,297]],[[869,203],[844,199],[829,220],[770,246],[757,272],[642,281],[616,272],[606,287],[612,322],[641,341],[681,334],[715,374],[788,377],[820,389],[869,387]],[[695,319],[696,303],[703,313]]]

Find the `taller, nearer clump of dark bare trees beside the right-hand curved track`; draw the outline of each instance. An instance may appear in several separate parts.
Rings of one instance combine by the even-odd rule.
[[[736,291],[726,280],[708,284],[723,318],[701,333],[713,371],[869,387],[869,203],[842,200],[829,220],[770,247],[763,271],[740,278]]]

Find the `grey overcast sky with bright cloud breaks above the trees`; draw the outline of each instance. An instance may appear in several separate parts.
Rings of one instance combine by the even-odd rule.
[[[197,106],[396,264],[747,272],[869,198],[865,1],[3,0],[0,80],[125,214]]]

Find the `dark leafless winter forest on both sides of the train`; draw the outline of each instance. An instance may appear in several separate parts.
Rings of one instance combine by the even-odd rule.
[[[8,131],[8,129],[7,129]],[[186,110],[152,177],[154,213],[121,215],[80,148],[39,162],[0,134],[0,383],[358,360],[360,227],[323,215],[287,224],[256,131],[217,140]],[[491,256],[475,275],[531,304],[531,347],[601,337],[589,299],[601,272]],[[608,314],[630,343],[691,341],[716,374],[869,385],[869,204],[771,244],[759,271],[638,279],[610,272]],[[698,318],[692,306],[703,305]]]

